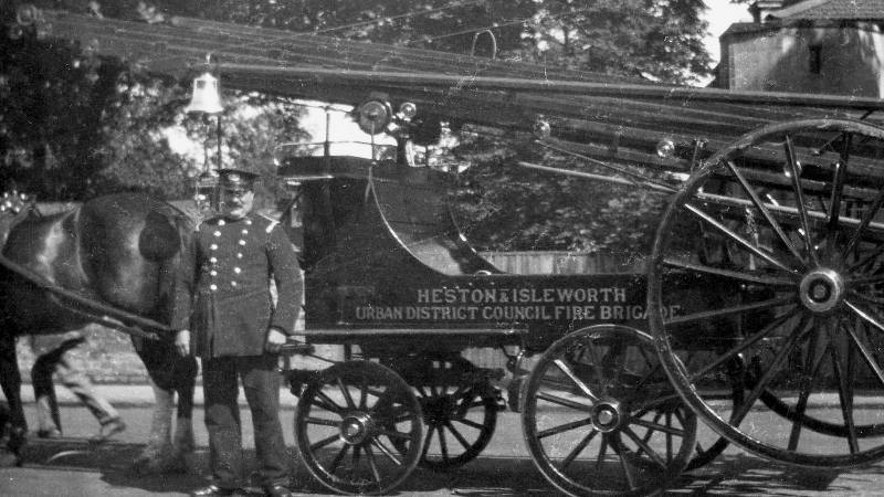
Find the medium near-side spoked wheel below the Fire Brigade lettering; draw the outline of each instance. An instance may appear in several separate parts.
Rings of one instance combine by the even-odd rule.
[[[670,385],[651,337],[600,325],[556,341],[528,377],[525,441],[570,495],[646,495],[685,468],[696,416]]]

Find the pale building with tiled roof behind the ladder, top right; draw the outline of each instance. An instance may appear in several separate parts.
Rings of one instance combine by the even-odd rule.
[[[759,0],[719,42],[715,86],[884,96],[884,0]]]

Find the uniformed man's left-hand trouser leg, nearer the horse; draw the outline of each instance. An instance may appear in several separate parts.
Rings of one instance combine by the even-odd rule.
[[[214,485],[222,489],[238,488],[242,475],[242,431],[235,359],[203,359],[202,391]]]

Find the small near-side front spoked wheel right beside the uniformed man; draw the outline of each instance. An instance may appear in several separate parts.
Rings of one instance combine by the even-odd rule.
[[[386,494],[423,452],[418,399],[398,374],[369,361],[322,371],[301,395],[295,441],[311,474],[341,494]]]

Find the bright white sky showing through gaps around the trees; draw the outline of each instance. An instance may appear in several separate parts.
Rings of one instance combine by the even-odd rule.
[[[706,12],[706,20],[709,23],[709,35],[706,38],[706,50],[709,52],[714,64],[718,62],[719,46],[718,36],[727,30],[727,28],[735,22],[751,21],[749,15],[748,6],[734,4],[730,0],[705,0],[708,10]],[[706,82],[701,82],[704,85]],[[420,112],[420,109],[419,109]],[[356,124],[352,123],[344,113],[333,112],[332,118],[332,133],[329,139],[332,141],[350,141],[360,140],[368,141],[369,137],[359,131]],[[322,141],[325,139],[325,113],[320,109],[311,108],[308,116],[302,120],[302,126],[313,136],[313,141]],[[196,160],[202,160],[202,148],[199,144],[190,142],[183,134],[182,129],[170,128],[167,130],[169,137],[169,145],[173,150],[193,157]],[[383,140],[383,136],[377,137]],[[385,140],[388,141],[388,140]],[[364,156],[370,154],[369,145],[356,144],[341,144],[333,149],[333,154],[352,154]]]

